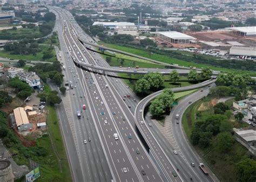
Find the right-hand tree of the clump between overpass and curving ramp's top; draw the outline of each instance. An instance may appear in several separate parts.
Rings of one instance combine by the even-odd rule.
[[[164,84],[164,76],[161,73],[147,73],[143,77],[144,79],[149,81],[150,89],[157,90]]]

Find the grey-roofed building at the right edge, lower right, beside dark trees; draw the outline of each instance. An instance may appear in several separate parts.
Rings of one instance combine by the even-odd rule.
[[[256,155],[256,131],[233,129],[234,136],[239,143],[244,145],[250,152]]]

